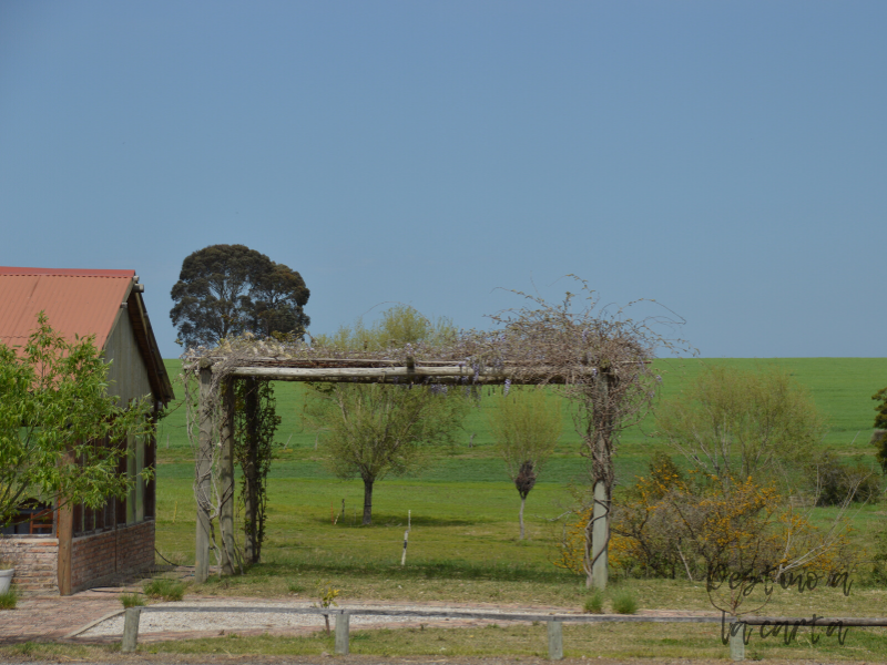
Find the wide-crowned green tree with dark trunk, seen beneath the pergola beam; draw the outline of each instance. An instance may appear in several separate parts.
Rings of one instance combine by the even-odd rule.
[[[318,430],[329,469],[343,480],[364,481],[365,525],[371,523],[374,483],[418,469],[430,446],[451,442],[466,406],[446,387],[312,387],[306,418]]]

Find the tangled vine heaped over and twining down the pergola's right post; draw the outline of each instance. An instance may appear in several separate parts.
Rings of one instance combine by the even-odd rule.
[[[569,291],[560,305],[521,294],[531,306],[492,318],[506,328],[503,354],[514,362],[516,377],[564,382],[562,391],[573,406],[577,432],[582,437],[581,453],[591,460],[590,485],[598,508],[585,511],[585,583],[603,589],[611,539],[613,453],[619,436],[640,422],[655,400],[661,377],[651,369],[651,360],[656,350],[690,348],[685,341],[669,339],[655,330],[659,325],[682,321],[662,317],[635,320],[621,309],[614,314],[600,309],[595,293],[585,282],[575,279],[584,300],[578,310],[573,307],[575,294]],[[595,543],[597,520],[603,521],[603,535],[599,536],[602,542]],[[595,569],[603,579],[593,580]]]

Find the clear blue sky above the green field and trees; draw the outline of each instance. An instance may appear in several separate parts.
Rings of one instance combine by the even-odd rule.
[[[0,1],[0,265],[298,270],[487,327],[654,298],[705,357],[887,355],[887,2]],[[378,311],[373,310],[373,314]]]

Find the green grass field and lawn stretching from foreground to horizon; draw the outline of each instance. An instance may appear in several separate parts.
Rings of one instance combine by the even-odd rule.
[[[887,385],[887,358],[660,361],[664,396],[680,391],[706,364],[712,362],[745,369],[769,364],[786,367],[810,391],[830,422],[832,429],[820,446],[830,447],[846,458],[864,456],[870,461],[874,449],[868,442],[875,415],[870,396]],[[173,376],[179,374],[177,366],[179,361],[167,361]],[[459,443],[452,449],[438,451],[427,471],[378,482],[374,492],[374,525],[361,528],[363,484],[359,480],[336,480],[324,469],[315,450],[315,436],[303,427],[299,418],[303,387],[279,382],[275,390],[283,423],[277,437],[281,448],[271,474],[268,535],[263,563],[245,576],[213,579],[201,587],[201,593],[313,597],[316,584],[326,581],[343,589],[344,603],[348,598],[449,600],[581,607],[585,592],[580,579],[551,563],[562,528],[562,521],[557,518],[571,503],[569,483],[581,481],[584,469],[578,454],[579,437],[572,429],[569,415],[564,415],[564,436],[557,453],[527,502],[529,539],[519,541],[518,493],[493,454],[485,421],[485,413],[496,409],[501,399],[498,391],[485,389],[480,407],[472,409],[466,420]],[[618,477],[623,483],[631,482],[635,473],[645,469],[651,452],[656,449],[657,443],[650,436],[652,429],[652,420],[648,419],[624,432],[616,453]],[[191,459],[184,433],[184,409],[179,409],[160,427],[156,533],[160,552],[166,559],[182,563],[192,563],[194,553]],[[408,513],[411,515],[411,531],[407,565],[401,567],[400,553]],[[834,509],[815,509],[818,521],[827,520],[833,513]],[[885,524],[885,515],[884,504],[869,504],[854,511],[855,538],[860,546],[867,544],[873,530]],[[711,608],[699,583],[616,580],[616,584],[631,589],[642,608]],[[849,597],[835,590],[776,595],[768,607],[768,613],[774,615],[805,616],[816,611],[819,615],[832,612],[865,616],[880,613],[887,601],[885,591],[866,589],[861,584],[857,584]],[[725,653],[725,647],[712,643],[715,633],[708,635],[703,628],[616,626],[606,628],[606,633],[612,634],[613,641],[601,643],[603,651],[595,651],[595,654],[628,657],[665,656],[673,652],[675,656],[695,654],[696,657],[710,657]],[[705,637],[701,636],[703,633]],[[825,651],[815,651],[816,657],[887,658],[883,630],[853,634],[856,642],[852,642],[850,647],[824,646]],[[378,655],[434,653],[438,646],[431,643],[439,640],[448,644],[452,642],[452,646],[447,647],[452,649],[449,653],[482,655],[475,647],[459,647],[461,638],[446,632],[436,633],[430,642],[427,635],[410,637],[414,642],[419,641],[412,652],[404,651],[406,643],[399,638],[386,635],[385,632],[374,633],[360,643],[360,648],[366,649],[364,653]],[[628,651],[624,647],[626,635],[635,645]],[[575,638],[584,640],[581,631]],[[510,638],[503,634],[503,640],[502,648],[506,651],[502,653],[530,655],[538,651],[517,637],[517,641],[509,642]],[[187,652],[192,647],[185,644],[157,648]],[[323,640],[318,638],[306,638],[298,642],[298,646],[293,643],[294,646],[289,647],[278,645],[275,638],[267,638],[265,643],[249,638],[237,645],[233,641],[226,642],[225,648],[231,653],[255,653],[259,644],[264,644],[262,648],[271,649],[264,653],[279,649],[279,653],[303,653],[298,649],[319,653],[326,648]],[[357,652],[359,645],[355,646]],[[193,648],[210,653],[217,649],[217,645],[194,645]],[[768,641],[758,648],[761,655],[769,658],[799,657],[802,652],[810,654],[809,645],[785,647],[778,641]]]

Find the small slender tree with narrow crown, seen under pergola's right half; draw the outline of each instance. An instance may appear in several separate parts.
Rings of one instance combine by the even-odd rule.
[[[523,508],[548,458],[561,436],[561,409],[539,389],[512,390],[489,416],[497,451],[520,494],[520,540]]]

